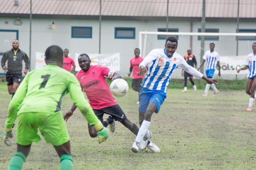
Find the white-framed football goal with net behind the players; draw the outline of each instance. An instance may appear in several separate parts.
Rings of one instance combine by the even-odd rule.
[[[245,66],[247,55],[253,52],[252,43],[256,42],[256,33],[139,32],[141,56],[144,58],[151,50],[164,48],[166,38],[169,36],[178,39],[176,53],[184,57],[187,55],[187,49],[192,50],[192,54],[197,60],[197,66],[200,66],[201,63],[201,39],[205,39],[204,53],[210,50],[209,44],[214,43],[214,51],[218,52],[220,56],[221,78],[229,80],[246,78],[248,71],[241,71],[237,74],[236,70]],[[218,72],[215,71],[215,74],[216,77]],[[176,70],[172,78],[182,79],[181,71]]]

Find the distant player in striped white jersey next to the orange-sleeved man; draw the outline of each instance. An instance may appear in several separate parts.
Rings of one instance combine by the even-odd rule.
[[[212,78],[213,77],[213,74],[215,72],[216,62],[217,62],[216,67],[219,70],[218,76],[220,77],[220,57],[219,57],[219,53],[214,51],[214,47],[215,47],[215,44],[210,43],[210,50],[204,53],[203,61],[202,61],[201,65],[199,66],[199,68],[197,69],[197,70],[199,70],[200,67],[203,66],[204,62],[207,60],[207,64],[206,64],[206,77],[207,78]],[[208,90],[209,90],[210,86],[214,90],[213,96],[216,96],[219,93],[216,86],[214,84],[210,84],[208,82],[206,84],[203,96],[207,96],[207,93],[208,93]]]

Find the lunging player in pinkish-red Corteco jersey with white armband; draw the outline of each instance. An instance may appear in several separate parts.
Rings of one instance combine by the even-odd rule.
[[[81,54],[78,57],[78,63],[82,70],[76,74],[76,78],[80,82],[82,90],[85,91],[94,113],[99,120],[102,121],[103,125],[105,127],[110,125],[110,131],[113,132],[115,130],[115,121],[119,121],[137,135],[139,128],[126,117],[125,113],[112,96],[109,86],[105,81],[105,78],[113,81],[121,78],[121,76],[107,67],[101,65],[91,66],[91,60],[87,54]],[[73,104],[70,111],[64,115],[66,121],[72,116],[75,109],[76,106]],[[110,116],[103,122],[104,113]],[[88,125],[88,130],[91,137],[97,137],[96,130],[93,126]],[[147,146],[153,152],[159,149],[150,141]]]

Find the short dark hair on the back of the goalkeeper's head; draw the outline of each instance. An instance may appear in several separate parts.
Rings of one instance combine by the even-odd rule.
[[[47,60],[60,61],[63,59],[63,51],[59,46],[53,45],[45,50],[45,58]]]

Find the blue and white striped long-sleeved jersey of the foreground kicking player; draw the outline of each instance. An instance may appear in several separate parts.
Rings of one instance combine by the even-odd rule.
[[[168,57],[165,49],[152,50],[140,63],[139,67],[148,66],[149,74],[144,79],[142,87],[150,90],[166,92],[170,83],[170,76],[177,68],[184,69],[187,73],[202,78],[203,74],[189,66],[186,60],[179,54],[174,53]]]

